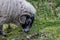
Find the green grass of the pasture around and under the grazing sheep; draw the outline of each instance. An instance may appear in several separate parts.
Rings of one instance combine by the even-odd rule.
[[[7,37],[3,40],[27,40],[26,36],[34,33],[42,32],[37,38],[30,40],[60,40],[60,15],[58,7],[59,0],[28,0],[34,5],[37,12],[35,21],[30,32],[24,33],[21,27],[10,24],[13,29],[7,33]],[[57,9],[57,10],[56,10]],[[5,24],[4,27],[7,27]],[[7,30],[5,30],[7,32]],[[46,37],[45,37],[46,36]],[[1,39],[1,38],[0,38]],[[2,39],[1,39],[2,40]]]

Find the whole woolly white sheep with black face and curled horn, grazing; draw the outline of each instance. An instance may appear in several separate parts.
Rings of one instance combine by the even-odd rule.
[[[36,9],[26,0],[0,0],[0,35],[5,36],[3,24],[21,25],[24,32],[29,32]]]

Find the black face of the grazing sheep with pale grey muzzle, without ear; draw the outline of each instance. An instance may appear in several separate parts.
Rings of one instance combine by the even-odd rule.
[[[32,16],[32,17],[25,16],[25,17],[26,17],[25,23],[21,24],[21,26],[22,26],[24,32],[29,32],[29,30],[32,26],[32,23],[34,21],[34,16]]]

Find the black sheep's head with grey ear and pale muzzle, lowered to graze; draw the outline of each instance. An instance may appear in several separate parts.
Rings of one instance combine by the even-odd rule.
[[[21,26],[23,28],[23,31],[29,32],[34,21],[34,16],[23,15],[21,16],[20,19],[21,19],[20,21],[21,21]]]

